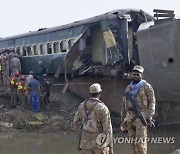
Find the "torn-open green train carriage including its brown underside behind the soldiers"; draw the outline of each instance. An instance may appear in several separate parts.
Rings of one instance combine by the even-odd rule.
[[[71,24],[0,39],[0,49],[21,56],[22,73],[39,72],[42,61],[49,74],[74,74],[69,88],[82,97],[99,82],[112,111],[119,112],[122,94],[129,81],[124,73],[139,63],[135,33],[141,23],[154,20],[142,10],[116,10]],[[66,85],[68,77],[66,78]],[[77,83],[77,84],[73,84]],[[82,83],[82,84],[80,84]],[[108,84],[107,84],[108,83]]]

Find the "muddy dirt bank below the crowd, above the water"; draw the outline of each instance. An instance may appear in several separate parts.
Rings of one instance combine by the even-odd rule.
[[[26,106],[10,108],[10,93],[0,92],[0,132],[58,133],[72,131],[72,120],[82,99],[61,87],[53,87],[50,95],[50,109],[47,110],[41,98],[40,112],[33,113]]]

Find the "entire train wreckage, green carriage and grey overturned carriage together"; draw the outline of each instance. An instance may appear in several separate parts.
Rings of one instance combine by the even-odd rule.
[[[56,78],[65,77],[68,87],[88,97],[88,86],[99,82],[102,100],[111,111],[119,112],[123,92],[134,65],[145,68],[144,77],[154,87],[157,119],[165,123],[178,113],[180,94],[180,33],[174,12],[155,10],[111,11],[89,19],[54,28],[0,39],[0,49],[21,56],[22,73],[39,72],[39,61]],[[167,19],[155,19],[166,17]],[[172,115],[171,115],[172,114]],[[171,119],[171,118],[170,118]],[[169,122],[172,120],[169,120]],[[173,122],[177,122],[174,119]]]

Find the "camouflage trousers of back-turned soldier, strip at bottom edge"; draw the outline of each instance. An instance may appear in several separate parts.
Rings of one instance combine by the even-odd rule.
[[[80,154],[109,154],[109,148],[94,148],[94,149],[86,149],[86,150],[80,150]]]

